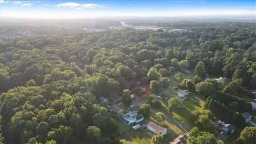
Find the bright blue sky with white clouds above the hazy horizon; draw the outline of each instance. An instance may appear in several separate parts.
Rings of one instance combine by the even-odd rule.
[[[250,15],[256,19],[256,0],[244,1],[10,1],[0,0],[1,17],[196,17]]]

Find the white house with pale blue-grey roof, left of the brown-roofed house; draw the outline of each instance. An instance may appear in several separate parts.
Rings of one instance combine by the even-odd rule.
[[[142,115],[138,115],[138,110],[129,111],[129,113],[123,115],[123,118],[124,123],[126,123],[127,125],[130,125],[132,123],[139,123],[144,119]]]

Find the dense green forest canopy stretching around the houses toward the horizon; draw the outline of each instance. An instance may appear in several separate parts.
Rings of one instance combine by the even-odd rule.
[[[119,143],[115,117],[99,98],[116,100],[123,90],[149,84],[152,71],[166,77],[193,70],[192,79],[175,75],[179,87],[203,95],[205,109],[227,122],[245,127],[239,113],[252,113],[242,98],[256,89],[255,23],[194,22],[180,31],[38,31],[0,40],[4,143]],[[225,87],[204,81],[209,76],[225,77]]]

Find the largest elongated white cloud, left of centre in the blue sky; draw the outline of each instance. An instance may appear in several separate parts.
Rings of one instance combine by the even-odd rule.
[[[81,10],[83,8],[102,8],[104,7],[101,4],[79,4],[79,3],[61,3],[61,4],[57,4],[56,7],[70,7],[70,8],[75,8],[76,10]]]

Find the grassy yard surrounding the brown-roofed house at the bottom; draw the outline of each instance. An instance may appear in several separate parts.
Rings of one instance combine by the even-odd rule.
[[[140,125],[146,124],[149,121],[154,121],[155,123],[155,115],[151,114],[149,118],[145,118]],[[119,121],[116,119],[118,124],[118,131],[121,132],[121,138],[137,142],[137,143],[150,143],[151,137],[146,133],[146,131],[142,130],[133,130],[133,125],[126,125],[123,121]],[[170,123],[169,121],[165,121],[162,124],[162,127],[167,128],[167,134],[164,135],[164,143],[168,143],[174,138],[177,138],[178,135],[185,133],[184,131],[180,130],[179,127],[175,126],[174,124]]]

